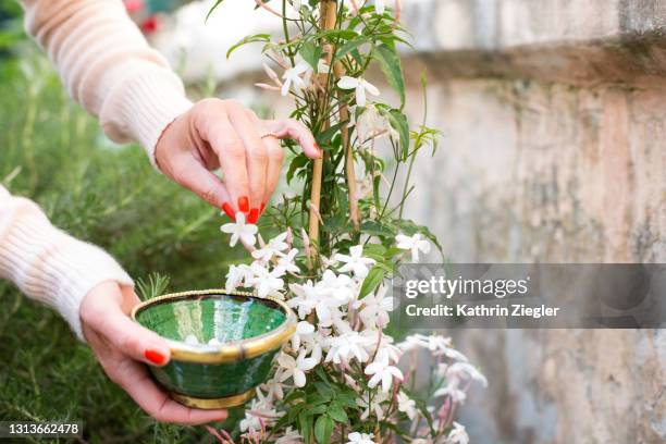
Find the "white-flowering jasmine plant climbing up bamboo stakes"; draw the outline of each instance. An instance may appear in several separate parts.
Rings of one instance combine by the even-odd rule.
[[[264,220],[281,234],[264,242],[242,213],[222,226],[231,245],[239,242],[252,258],[231,267],[226,288],[286,300],[299,319],[235,436],[283,444],[466,443],[456,406],[484,377],[448,338],[411,335],[396,343],[385,332],[393,299],[384,281],[394,266],[418,261],[432,244],[441,250],[427,227],[403,218],[416,156],[427,147],[434,152],[437,133],[424,124],[410,131],[403,113],[396,45],[407,41],[399,2],[393,10],[379,0],[283,0],[280,10],[256,3],[282,20],[283,36],[249,36],[230,53],[264,44],[272,66],[264,65],[269,83],[258,86],[294,99],[292,116],[310,128],[324,156],[310,163],[286,143],[287,182],[300,181],[303,194],[285,195],[267,211]],[[380,102],[380,90],[366,79],[373,64],[397,92],[397,107]],[[379,155],[385,148],[387,159]],[[434,360],[427,393],[417,381],[418,349]],[[234,442],[233,433],[209,430]]]

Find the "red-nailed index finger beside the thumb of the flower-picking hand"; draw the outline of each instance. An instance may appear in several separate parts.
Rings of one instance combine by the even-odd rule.
[[[214,122],[210,122],[203,128],[202,137],[206,137],[220,158],[224,184],[234,212],[249,213],[249,180],[245,146],[227,115],[220,113]]]

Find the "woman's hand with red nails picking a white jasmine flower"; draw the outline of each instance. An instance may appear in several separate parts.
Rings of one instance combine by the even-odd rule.
[[[164,130],[155,159],[164,174],[230,218],[242,211],[255,223],[280,182],[276,138],[297,140],[311,159],[322,156],[312,134],[294,120],[260,120],[235,100],[206,99]],[[211,173],[220,166],[223,181]]]

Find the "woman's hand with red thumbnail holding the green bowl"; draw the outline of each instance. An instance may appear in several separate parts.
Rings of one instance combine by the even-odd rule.
[[[145,363],[164,366],[170,350],[157,333],[141,328],[127,313],[138,297],[114,282],[92,288],[81,306],[84,336],[111,381],[148,415],[161,422],[201,424],[226,418],[226,410],[197,410],[177,404],[152,382]]]

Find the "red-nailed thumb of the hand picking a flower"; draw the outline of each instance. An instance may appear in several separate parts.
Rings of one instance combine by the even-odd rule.
[[[183,157],[176,182],[194,192],[210,205],[220,208],[232,220],[235,219],[236,211],[231,205],[232,199],[226,186],[220,177],[208,171],[194,157]]]

